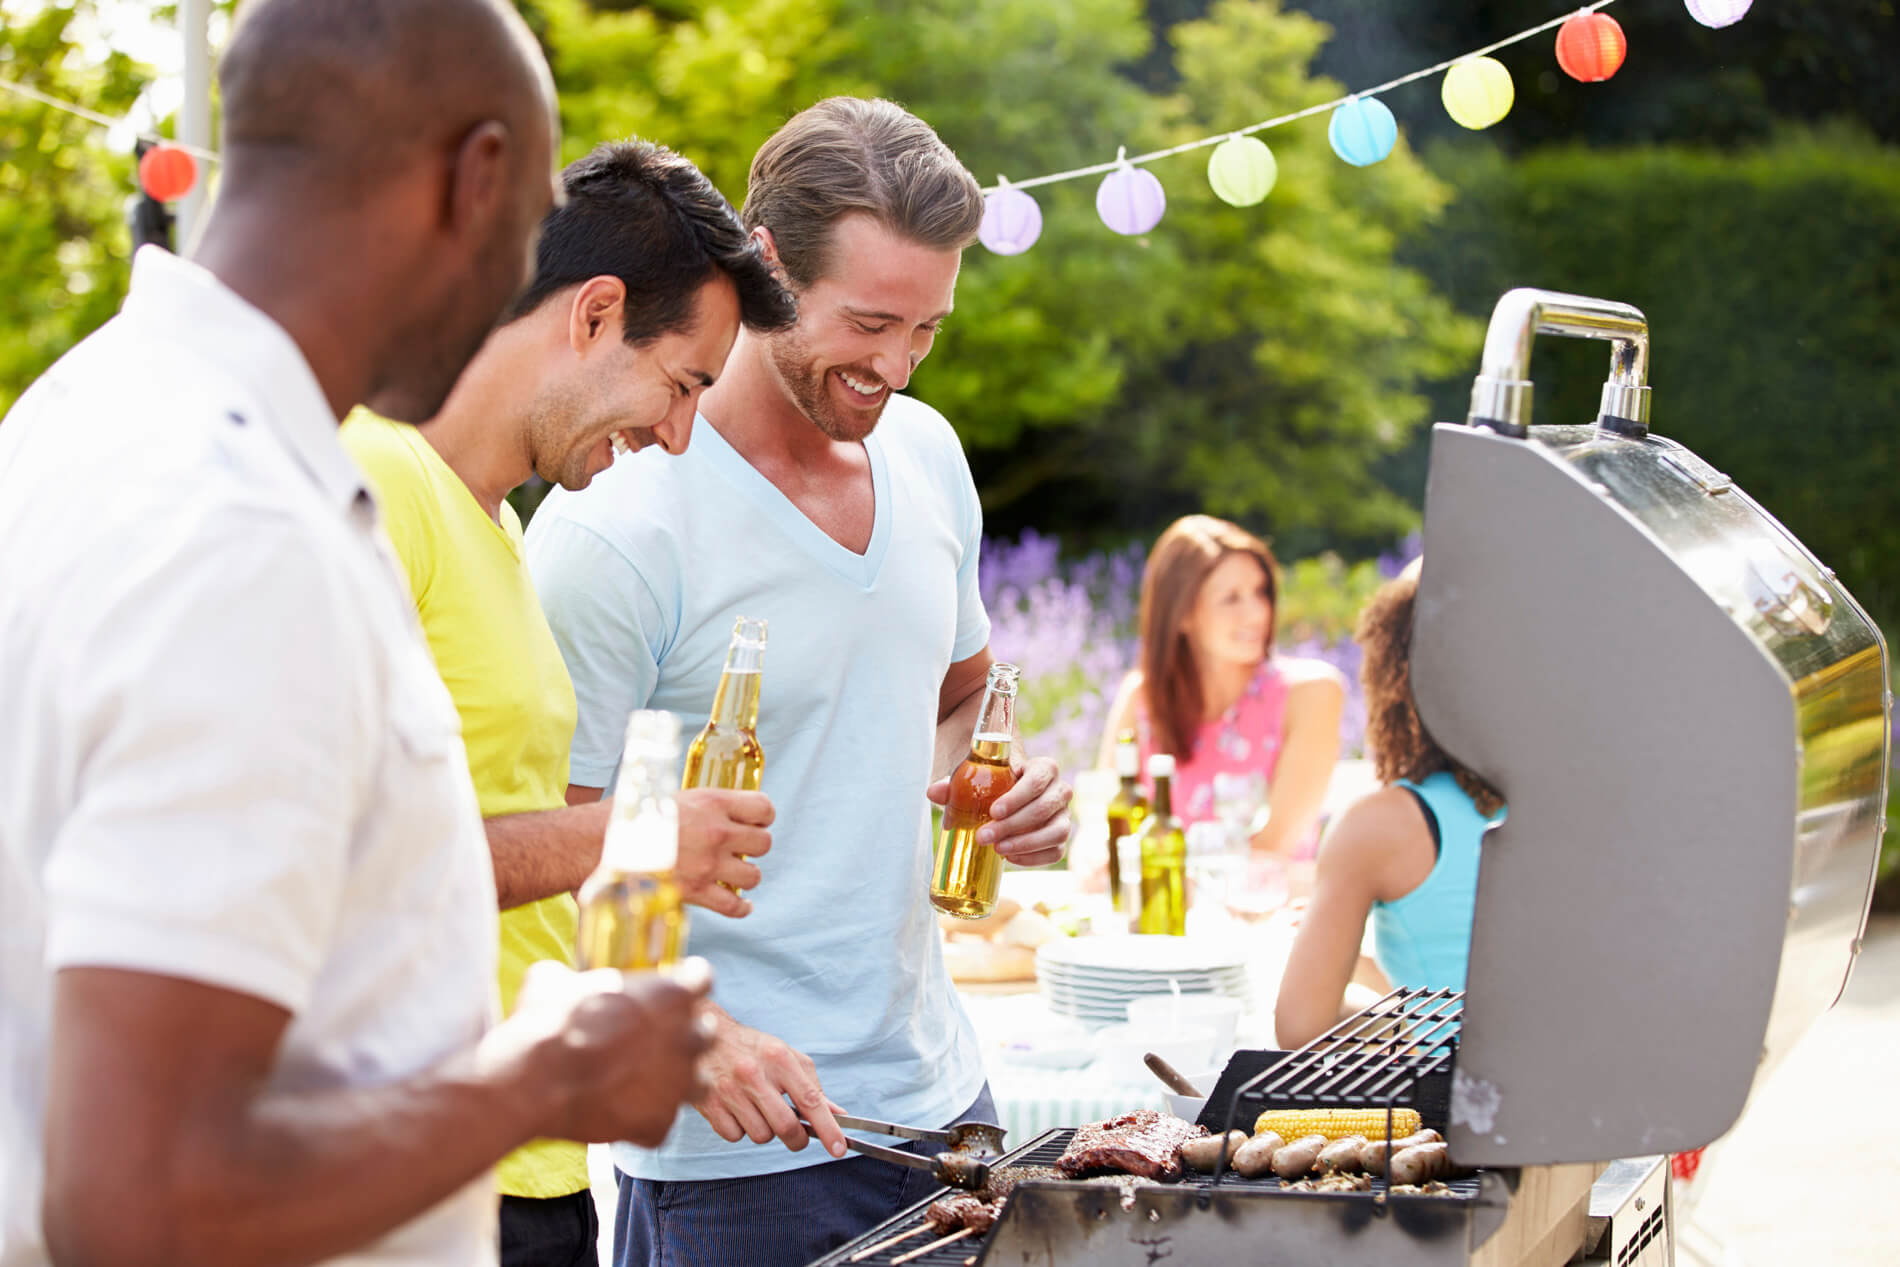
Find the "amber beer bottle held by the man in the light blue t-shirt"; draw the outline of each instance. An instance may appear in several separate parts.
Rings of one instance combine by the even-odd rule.
[[[1020,676],[1015,665],[990,665],[969,756],[950,775],[950,800],[931,868],[931,904],[958,919],[982,919],[996,910],[996,891],[1003,883],[1003,859],[977,840],[977,828],[992,821],[996,798],[1016,785],[1009,745],[1016,729]]]

